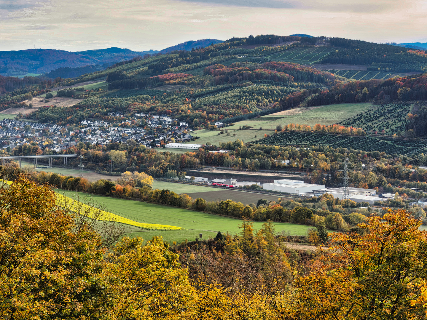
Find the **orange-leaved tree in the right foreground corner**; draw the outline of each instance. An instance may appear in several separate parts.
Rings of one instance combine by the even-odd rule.
[[[331,247],[298,278],[299,319],[419,319],[427,278],[427,233],[405,210],[330,234]],[[324,261],[321,263],[320,261]],[[423,291],[424,290],[424,291]],[[420,298],[421,297],[421,298]]]

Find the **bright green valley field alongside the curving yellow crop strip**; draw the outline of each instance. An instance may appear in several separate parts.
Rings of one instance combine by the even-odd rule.
[[[56,191],[71,198],[76,196],[76,193],[69,193],[64,190]],[[82,192],[77,192],[77,194],[80,198],[88,196],[88,194]],[[239,224],[241,224],[241,220],[233,218],[140,201],[108,198],[98,195],[94,195],[93,198],[95,201],[103,204],[106,211],[133,221],[152,224],[167,224],[188,229],[179,232],[174,230],[153,232],[142,231],[132,233],[132,236],[138,235],[142,236],[144,239],[151,239],[154,235],[161,235],[168,241],[183,241],[185,239],[193,241],[195,236],[199,233],[203,233],[204,236],[215,236],[218,231],[225,233],[228,232],[231,234],[237,234],[240,232]],[[263,222],[254,222],[254,229],[259,230],[262,224]],[[275,223],[275,229],[277,232],[286,230],[289,231],[291,235],[304,235],[309,228],[310,226],[300,224]]]

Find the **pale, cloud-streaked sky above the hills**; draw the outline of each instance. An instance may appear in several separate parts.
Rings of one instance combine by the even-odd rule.
[[[0,50],[161,50],[261,34],[427,42],[427,0],[0,0]]]

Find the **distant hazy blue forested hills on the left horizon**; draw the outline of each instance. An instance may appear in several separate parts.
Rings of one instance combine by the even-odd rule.
[[[135,52],[129,49],[108,48],[69,52],[53,49],[28,49],[0,51],[0,74],[3,76],[25,75],[27,73],[48,73],[63,67],[112,64],[129,60],[137,55],[155,52]]]

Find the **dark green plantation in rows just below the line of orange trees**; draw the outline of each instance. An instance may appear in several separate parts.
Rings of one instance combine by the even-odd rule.
[[[332,148],[353,148],[363,151],[380,151],[386,154],[420,154],[427,152],[424,140],[413,142],[393,138],[355,137],[314,132],[285,131],[263,138],[258,143],[267,145],[329,145]]]

